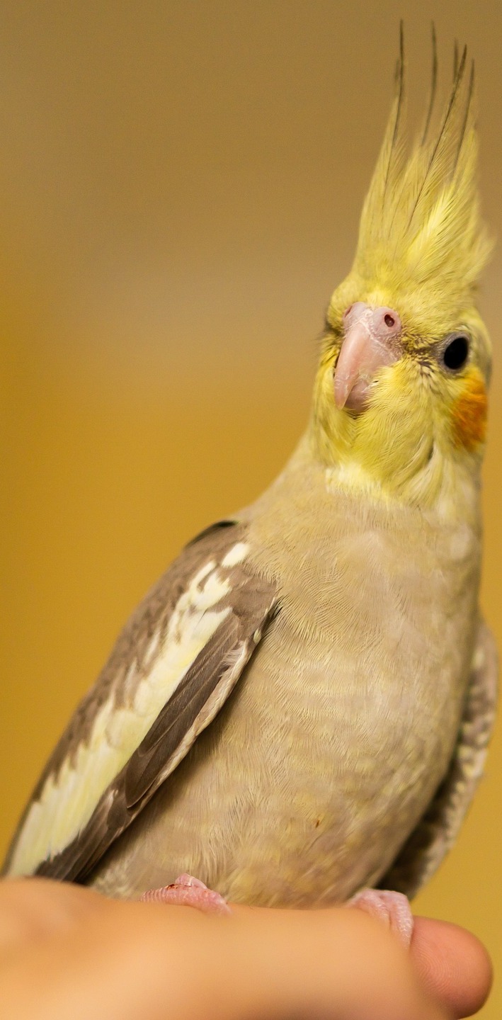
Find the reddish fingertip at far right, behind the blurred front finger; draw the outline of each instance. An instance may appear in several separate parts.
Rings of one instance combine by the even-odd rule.
[[[446,921],[416,917],[411,954],[424,986],[454,1017],[471,1016],[485,1004],[492,964],[475,935]]]

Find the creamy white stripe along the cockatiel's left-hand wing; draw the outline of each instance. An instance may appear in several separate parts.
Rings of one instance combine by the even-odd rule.
[[[10,874],[31,874],[41,860],[59,854],[84,828],[106,787],[231,612],[230,607],[212,608],[230,588],[214,560],[195,574],[174,606],[163,641],[158,632],[151,639],[149,658],[157,645],[158,656],[139,681],[132,707],[115,708],[111,695],[96,715],[88,743],[80,746],[74,764],[66,761],[56,780],[48,777],[26,818]],[[133,676],[132,669],[130,682]]]

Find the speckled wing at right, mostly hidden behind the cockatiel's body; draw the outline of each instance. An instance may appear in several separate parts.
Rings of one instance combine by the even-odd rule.
[[[483,776],[497,702],[498,657],[481,621],[464,712],[450,768],[420,822],[379,882],[410,899],[432,877],[450,848]]]

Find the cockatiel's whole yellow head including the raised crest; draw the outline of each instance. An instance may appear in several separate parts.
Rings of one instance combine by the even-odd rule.
[[[476,190],[465,51],[439,126],[407,154],[403,58],[352,269],[327,316],[311,436],[338,480],[432,507],[478,478],[490,343],[476,284],[491,244]]]

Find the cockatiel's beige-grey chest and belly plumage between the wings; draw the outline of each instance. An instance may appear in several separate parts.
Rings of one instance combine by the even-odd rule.
[[[478,539],[350,507],[331,520],[318,502],[253,523],[280,612],[99,887],[134,895],[189,871],[236,902],[345,899],[385,873],[433,798],[472,655]]]

